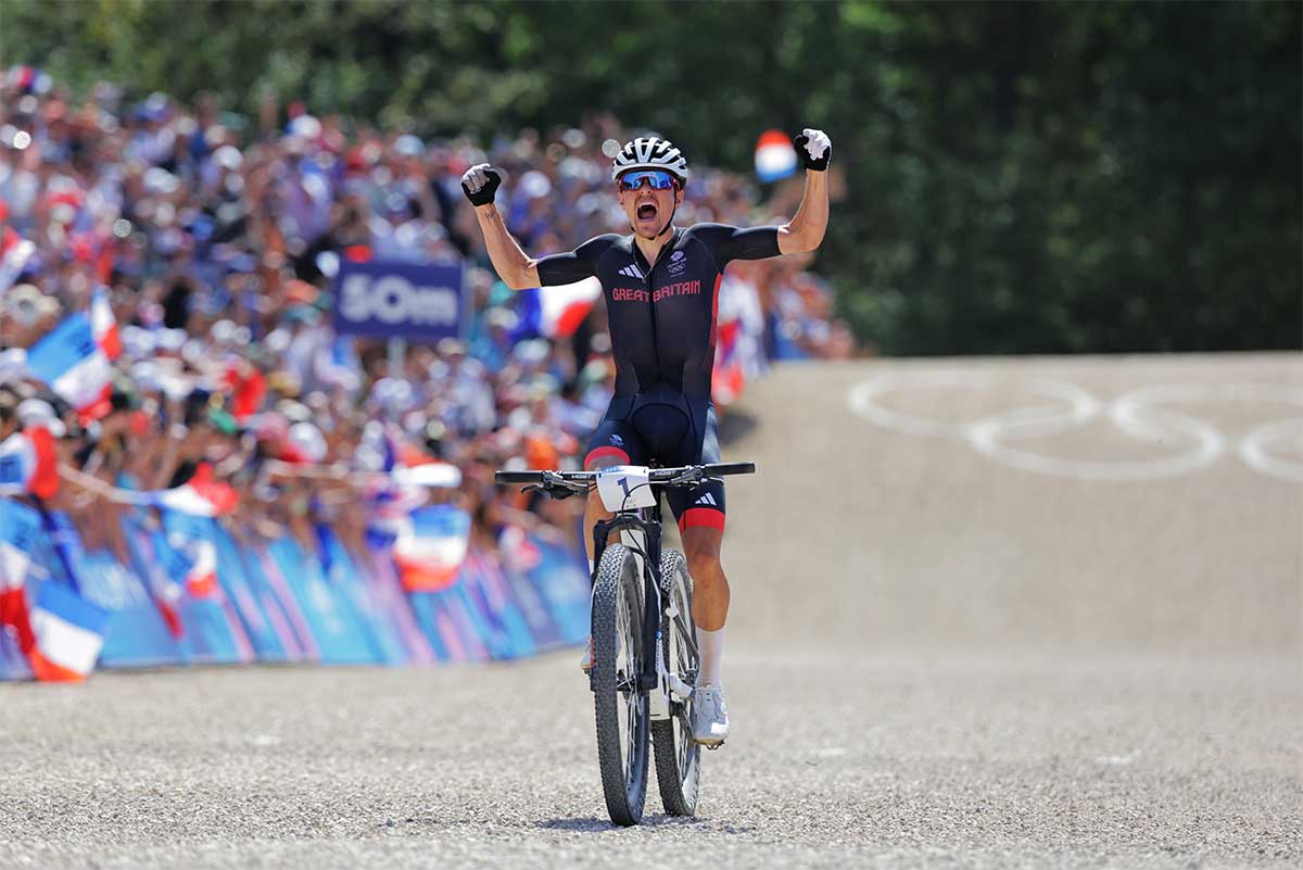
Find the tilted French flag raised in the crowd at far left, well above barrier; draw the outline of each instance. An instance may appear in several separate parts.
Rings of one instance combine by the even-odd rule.
[[[27,352],[27,370],[76,408],[82,421],[99,419],[111,409],[113,367],[83,311],[64,318]]]

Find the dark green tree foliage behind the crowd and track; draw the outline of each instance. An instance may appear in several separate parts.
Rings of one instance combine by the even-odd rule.
[[[747,171],[826,129],[886,353],[1299,348],[1298,3],[4,0],[0,56],[422,133],[612,112]]]

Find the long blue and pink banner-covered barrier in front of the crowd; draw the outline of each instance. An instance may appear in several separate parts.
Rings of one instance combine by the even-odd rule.
[[[451,580],[408,593],[390,547],[353,552],[324,525],[302,542],[155,507],[126,509],[120,521],[125,563],[86,550],[66,514],[50,512],[42,525],[36,511],[0,499],[3,587],[23,587],[5,599],[0,679],[30,680],[38,660],[21,643],[21,623],[8,620],[9,599],[35,615],[42,679],[83,679],[96,660],[482,662],[588,634],[582,559],[533,534],[503,542],[509,563],[470,546]]]

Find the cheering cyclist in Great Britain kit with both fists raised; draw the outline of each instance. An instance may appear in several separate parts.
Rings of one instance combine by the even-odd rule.
[[[569,254],[530,259],[507,232],[494,206],[499,173],[481,163],[461,188],[485,234],[498,275],[512,289],[569,284],[595,275],[606,294],[615,357],[615,396],[588,444],[584,468],[665,466],[719,461],[710,375],[715,361],[719,281],[734,259],[764,259],[812,251],[827,228],[827,163],[833,146],[822,130],[795,139],[805,173],[805,195],[782,227],[739,229],[723,224],[674,225],[688,182],[688,161],[667,139],[637,138],[615,155],[611,178],[629,219],[628,236],[589,240]],[[693,738],[718,746],[728,736],[719,682],[728,581],[719,565],[724,530],[724,487],[709,482],[671,490],[692,574],[692,617],[697,624],[701,672],[693,690]],[[597,491],[589,494],[584,542],[592,569],[593,526],[610,517]],[[585,654],[592,667],[592,647]]]

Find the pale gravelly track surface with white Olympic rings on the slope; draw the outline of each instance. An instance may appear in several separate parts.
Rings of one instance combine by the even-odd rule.
[[[724,432],[696,819],[606,821],[569,651],[96,673],[0,686],[0,867],[1303,866],[1303,359],[788,366]]]

